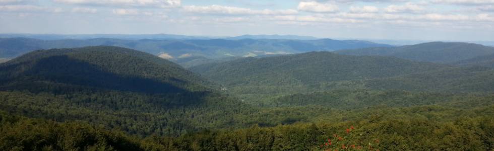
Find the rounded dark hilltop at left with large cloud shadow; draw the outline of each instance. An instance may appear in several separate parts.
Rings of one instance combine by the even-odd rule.
[[[144,93],[209,91],[195,73],[137,50],[95,46],[37,50],[0,64],[0,89]]]

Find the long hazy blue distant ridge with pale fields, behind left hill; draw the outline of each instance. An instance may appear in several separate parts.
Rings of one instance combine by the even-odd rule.
[[[109,45],[126,47],[161,55],[166,58],[205,56],[256,56],[308,51],[333,51],[366,47],[391,47],[386,44],[359,40],[289,40],[289,39],[189,39],[189,40],[130,40],[96,38],[87,40],[38,40],[30,38],[0,38],[0,58],[13,58],[37,49],[70,48]]]

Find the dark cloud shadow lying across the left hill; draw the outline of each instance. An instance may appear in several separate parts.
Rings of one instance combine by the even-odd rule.
[[[11,64],[0,67],[2,70],[29,67],[29,64]],[[69,58],[66,55],[40,59],[30,69],[0,78],[0,90],[29,90],[33,93],[52,92],[71,93],[82,90],[116,90],[139,93],[187,93],[188,90],[175,85],[187,85],[187,82],[170,79],[175,84],[159,80],[131,77],[107,72],[95,64]]]

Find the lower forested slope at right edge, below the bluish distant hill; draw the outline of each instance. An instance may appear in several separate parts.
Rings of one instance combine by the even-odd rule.
[[[488,67],[446,67],[387,79],[365,81],[372,89],[413,91],[493,92],[494,69]]]

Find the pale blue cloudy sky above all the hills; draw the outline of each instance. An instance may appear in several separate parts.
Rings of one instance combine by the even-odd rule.
[[[0,0],[0,33],[494,41],[494,0]]]

